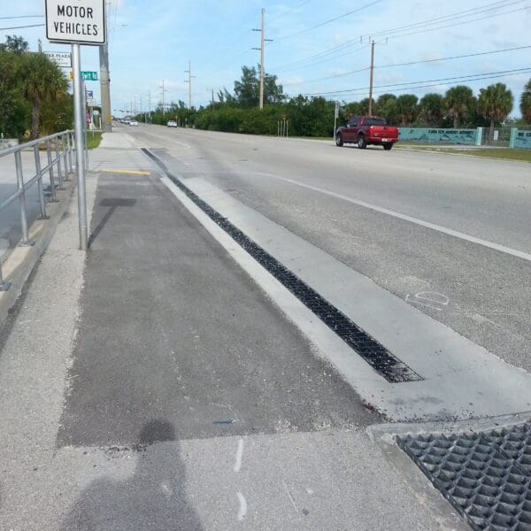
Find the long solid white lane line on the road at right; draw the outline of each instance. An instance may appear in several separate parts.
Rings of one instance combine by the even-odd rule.
[[[286,181],[291,184],[295,184],[296,186],[300,186],[305,189],[314,190],[321,194],[326,194],[327,196],[337,197],[338,199],[342,199],[343,201],[347,201],[352,204],[358,204],[359,206],[369,208],[375,212],[381,212],[382,214],[387,214],[389,216],[393,216],[394,218],[404,219],[404,221],[409,221],[410,223],[414,223],[415,225],[419,225],[420,227],[431,228],[445,235],[454,236],[456,238],[460,238],[461,240],[466,240],[466,242],[477,243],[478,245],[482,245],[483,247],[499,250],[500,252],[512,255],[513,257],[522,258],[524,260],[527,260],[528,262],[531,262],[531,254],[522,250],[512,249],[510,247],[500,245],[499,243],[489,242],[488,240],[482,240],[481,238],[476,238],[475,236],[466,235],[465,233],[453,230],[452,228],[442,227],[441,225],[435,225],[435,223],[430,223],[429,221],[423,221],[422,219],[412,218],[412,216],[406,216],[405,214],[401,214],[400,212],[395,212],[387,208],[382,208],[381,206],[376,206],[375,204],[366,203],[365,201],[358,201],[358,199],[352,199],[352,197],[349,196],[343,196],[342,194],[337,194],[327,189],[321,189],[318,186],[312,186],[311,184],[305,184],[304,182],[294,181],[293,179],[279,177],[278,175],[273,174],[271,174],[271,177],[273,177],[274,179],[278,179],[279,181]]]

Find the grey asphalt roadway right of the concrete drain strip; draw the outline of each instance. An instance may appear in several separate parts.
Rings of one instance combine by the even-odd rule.
[[[184,179],[212,182],[531,371],[529,165],[145,125],[127,132]]]

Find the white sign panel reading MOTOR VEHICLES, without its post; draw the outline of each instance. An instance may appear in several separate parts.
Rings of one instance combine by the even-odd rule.
[[[105,0],[44,0],[50,42],[105,43]]]

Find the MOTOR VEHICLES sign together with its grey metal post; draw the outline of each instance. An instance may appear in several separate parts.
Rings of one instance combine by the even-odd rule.
[[[89,246],[87,192],[85,185],[84,127],[85,91],[81,80],[81,44],[105,43],[105,0],[44,0],[46,38],[72,45],[73,115],[80,225],[80,249]],[[97,77],[96,77],[97,79]]]

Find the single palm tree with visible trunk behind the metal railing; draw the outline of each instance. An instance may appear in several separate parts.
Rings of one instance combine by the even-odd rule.
[[[23,93],[31,104],[31,139],[39,136],[43,101],[55,100],[68,87],[65,74],[43,53],[25,53],[21,65]]]

